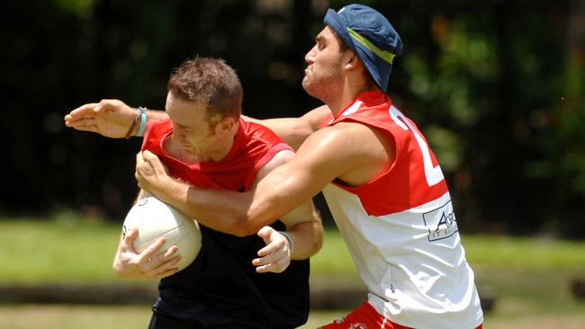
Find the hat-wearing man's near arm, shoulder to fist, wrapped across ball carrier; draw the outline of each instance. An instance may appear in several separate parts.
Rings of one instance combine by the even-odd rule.
[[[245,236],[311,200],[336,178],[353,186],[368,182],[381,173],[380,164],[389,163],[393,154],[373,130],[355,123],[338,124],[313,133],[291,161],[276,167],[245,193],[189,186],[157,169],[156,156],[147,152],[143,156],[137,156],[142,188],[205,226]],[[147,169],[155,173],[140,173]]]

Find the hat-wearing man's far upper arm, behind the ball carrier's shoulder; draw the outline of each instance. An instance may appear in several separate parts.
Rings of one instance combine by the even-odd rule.
[[[254,121],[274,131],[286,144],[298,150],[302,143],[313,132],[320,129],[321,121],[329,114],[329,108],[325,105],[309,111],[300,118],[278,118],[258,120],[244,116],[245,120]]]

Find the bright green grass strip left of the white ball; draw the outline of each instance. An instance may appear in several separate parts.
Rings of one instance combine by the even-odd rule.
[[[0,221],[0,282],[116,280],[112,260],[120,227],[100,221]]]

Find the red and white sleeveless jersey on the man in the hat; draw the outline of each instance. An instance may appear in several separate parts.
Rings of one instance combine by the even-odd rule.
[[[384,131],[396,145],[391,168],[372,182],[356,188],[333,182],[323,189],[369,303],[413,328],[481,325],[446,182],[419,129],[381,92],[361,93],[325,126],[342,120]]]

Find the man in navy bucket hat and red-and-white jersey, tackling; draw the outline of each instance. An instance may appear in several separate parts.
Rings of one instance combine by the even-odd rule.
[[[325,105],[301,118],[262,120],[298,148],[292,161],[237,193],[175,180],[144,152],[139,186],[216,229],[269,223],[323,191],[369,289],[365,304],[323,328],[481,328],[443,173],[385,93],[402,51],[398,33],[361,4],[329,9],[324,22],[302,86]]]

